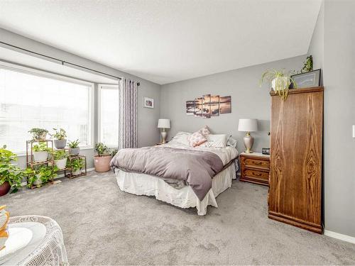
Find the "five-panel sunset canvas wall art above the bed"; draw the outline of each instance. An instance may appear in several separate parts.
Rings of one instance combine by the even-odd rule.
[[[205,94],[201,98],[186,101],[187,116],[211,118],[223,113],[231,113],[231,96]]]

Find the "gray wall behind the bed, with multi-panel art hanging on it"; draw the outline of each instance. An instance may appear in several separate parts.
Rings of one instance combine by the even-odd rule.
[[[170,118],[171,129],[168,132],[170,137],[178,131],[193,132],[207,125],[214,133],[233,135],[238,140],[239,152],[242,152],[245,133],[238,131],[239,118],[256,118],[259,122],[259,131],[252,133],[255,138],[253,150],[261,152],[261,148],[269,148],[271,86],[263,84],[260,88],[258,81],[263,71],[268,68],[300,70],[304,60],[305,56],[293,57],[163,85],[160,94],[160,116]],[[186,101],[202,96],[202,94],[231,95],[231,113],[212,118],[187,116]]]

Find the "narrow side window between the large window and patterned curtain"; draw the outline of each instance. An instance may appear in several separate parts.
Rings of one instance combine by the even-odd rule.
[[[99,142],[119,146],[119,87],[99,84]]]

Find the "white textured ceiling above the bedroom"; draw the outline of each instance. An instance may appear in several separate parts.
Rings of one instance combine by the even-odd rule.
[[[321,0],[2,0],[0,27],[166,84],[304,55],[320,4]]]

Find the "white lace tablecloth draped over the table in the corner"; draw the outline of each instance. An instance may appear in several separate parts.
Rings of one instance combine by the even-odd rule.
[[[14,216],[10,218],[9,226],[15,226],[14,223],[16,227],[21,226],[21,223],[24,226],[37,223],[38,226],[45,226],[45,233],[37,242],[30,243],[11,260],[4,262],[4,265],[68,265],[62,229],[56,221],[45,216]],[[35,229],[33,233],[36,233]]]

